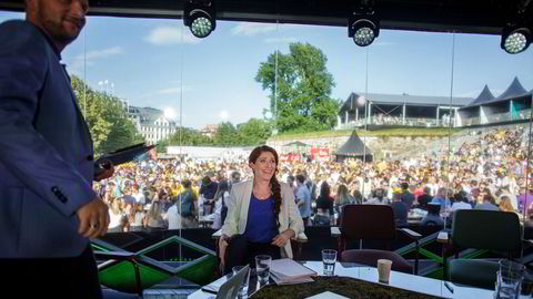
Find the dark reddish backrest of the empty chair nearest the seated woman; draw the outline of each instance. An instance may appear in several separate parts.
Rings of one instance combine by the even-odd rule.
[[[344,205],[341,217],[344,239],[393,240],[396,237],[394,213],[384,205]]]

